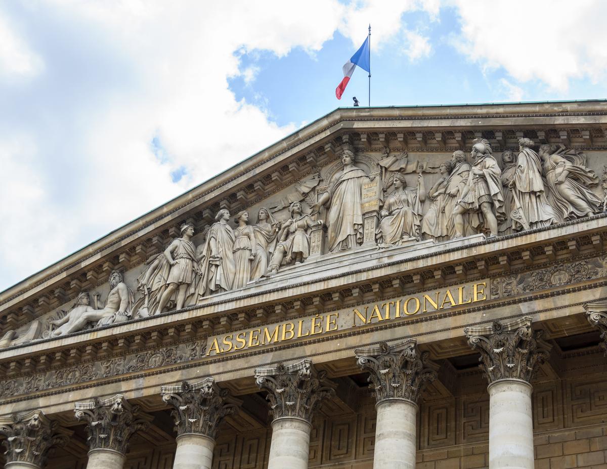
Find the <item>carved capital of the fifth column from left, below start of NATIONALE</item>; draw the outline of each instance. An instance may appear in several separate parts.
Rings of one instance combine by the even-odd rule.
[[[358,366],[369,372],[377,402],[385,399],[407,399],[417,402],[427,383],[436,379],[436,366],[428,352],[420,352],[413,338],[395,344],[380,342],[377,346],[354,351]]]

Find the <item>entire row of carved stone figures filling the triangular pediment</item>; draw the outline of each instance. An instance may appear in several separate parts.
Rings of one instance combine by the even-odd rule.
[[[517,231],[547,227],[603,211],[603,200],[592,187],[599,178],[586,167],[583,153],[563,146],[519,140],[517,151],[501,154],[501,165],[490,143],[475,140],[472,163],[463,151],[438,169],[440,178],[426,190],[421,172],[417,187],[407,189],[409,160],[384,156],[378,162],[380,176],[371,176],[355,165],[354,152],[342,150],[342,167],[322,191],[288,199],[290,217],[277,220],[270,208],[260,208],[255,224],[247,210],[235,216],[219,210],[208,229],[206,241],[191,241],[194,226],[184,224],[180,238],[146,262],[138,277],[141,295],[124,284],[120,272],[110,275],[110,293],[104,307],[90,306],[87,293],[63,317],[51,321],[49,335],[70,334],[87,327],[148,317],[194,305],[203,296],[245,287],[275,275],[285,266],[305,262],[310,256],[311,231],[326,227],[327,251],[341,252],[363,242],[363,193],[373,177],[386,190],[376,224],[375,242],[380,248],[433,239],[436,242],[485,233],[504,236]],[[305,185],[305,184],[304,184]],[[316,190],[318,180],[308,184]],[[300,194],[301,195],[301,194]],[[306,213],[302,200],[311,213]],[[422,213],[427,200],[430,207]],[[325,219],[319,219],[322,215]],[[234,223],[232,227],[231,222]]]

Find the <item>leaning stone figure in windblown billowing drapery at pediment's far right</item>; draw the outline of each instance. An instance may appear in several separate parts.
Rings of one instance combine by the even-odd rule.
[[[558,221],[575,220],[602,211],[602,201],[591,187],[599,184],[594,171],[586,168],[586,157],[565,151],[562,146],[540,146],[540,158],[546,175],[548,200]]]

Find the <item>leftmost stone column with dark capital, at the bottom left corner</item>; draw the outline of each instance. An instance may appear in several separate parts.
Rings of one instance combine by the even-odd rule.
[[[0,434],[5,436],[7,469],[42,469],[49,451],[65,445],[72,432],[58,427],[42,411],[8,417],[0,422]]]

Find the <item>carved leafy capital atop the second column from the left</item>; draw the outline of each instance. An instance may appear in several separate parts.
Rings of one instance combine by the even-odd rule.
[[[140,430],[147,430],[149,420],[143,419],[139,406],[132,406],[122,394],[109,399],[76,402],[76,419],[86,420],[90,450],[109,449],[126,454],[129,439]]]

